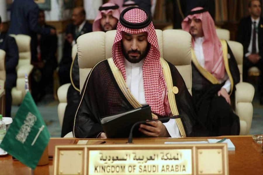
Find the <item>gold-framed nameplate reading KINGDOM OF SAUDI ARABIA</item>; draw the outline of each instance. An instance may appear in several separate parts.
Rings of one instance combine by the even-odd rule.
[[[54,174],[229,174],[225,143],[60,145]]]

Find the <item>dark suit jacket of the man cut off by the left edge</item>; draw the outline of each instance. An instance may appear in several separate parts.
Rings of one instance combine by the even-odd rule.
[[[0,34],[0,49],[6,52],[6,74],[16,74],[15,67],[18,64],[18,47],[15,38],[7,34]]]

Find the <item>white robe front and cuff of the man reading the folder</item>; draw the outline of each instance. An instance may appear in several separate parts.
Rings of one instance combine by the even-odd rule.
[[[139,101],[141,105],[146,105],[144,87],[143,87],[143,62],[145,59],[141,60],[139,63],[131,63],[124,59],[124,65],[126,70],[126,84],[131,91],[134,98]],[[170,119],[165,125],[168,133],[171,137],[181,137],[178,126],[175,119]]]

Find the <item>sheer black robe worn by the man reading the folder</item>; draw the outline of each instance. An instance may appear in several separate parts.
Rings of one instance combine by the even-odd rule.
[[[179,114],[183,116],[181,120],[186,136],[207,136],[207,130],[196,117],[192,97],[183,78],[174,65],[168,64],[173,86],[179,89],[175,99]],[[107,60],[98,63],[92,69],[84,83],[80,98],[73,127],[73,134],[77,138],[96,138],[103,132],[99,118],[134,108],[117,85]]]

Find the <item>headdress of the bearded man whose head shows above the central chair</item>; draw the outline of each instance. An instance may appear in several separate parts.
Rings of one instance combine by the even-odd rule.
[[[101,7],[110,7],[110,6],[116,6],[114,3],[105,3]],[[120,10],[119,9],[109,9],[109,10],[101,10],[98,12],[98,15],[96,16],[93,24],[92,24],[92,31],[102,31],[101,29],[101,18],[102,13],[108,14],[109,12],[112,12],[112,16],[115,17],[117,20],[120,18]]]

